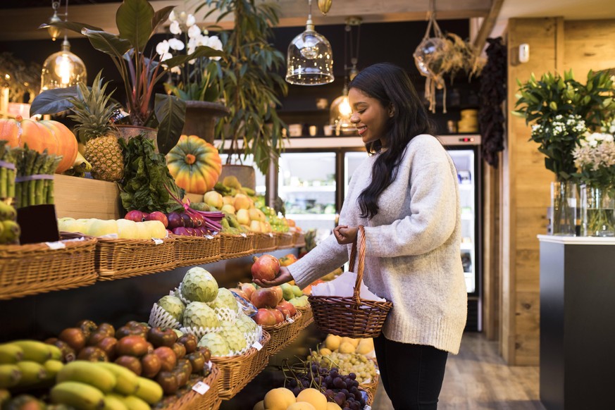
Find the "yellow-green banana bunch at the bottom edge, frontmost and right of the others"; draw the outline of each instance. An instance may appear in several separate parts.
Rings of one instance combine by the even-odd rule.
[[[163,397],[162,387],[128,368],[105,361],[71,361],[56,375],[49,397],[75,409],[149,410]]]

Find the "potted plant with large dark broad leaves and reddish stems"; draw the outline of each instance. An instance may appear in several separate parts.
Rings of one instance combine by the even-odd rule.
[[[60,21],[51,23],[85,35],[95,49],[113,60],[123,80],[130,123],[157,129],[158,149],[166,154],[177,144],[185,118],[185,102],[167,94],[154,94],[154,86],[166,70],[199,56],[220,56],[222,53],[208,46],[199,46],[190,55],[175,56],[161,65],[153,51],[147,54],[146,46],[157,27],[167,20],[173,6],[154,11],[147,0],[124,0],[116,13],[119,34],[105,32],[99,27],[84,23]],[[43,25],[42,27],[46,27]],[[34,113],[55,113],[70,107],[68,98],[76,95],[76,87],[45,92]],[[41,94],[43,95],[43,94]],[[40,96],[39,96],[40,97]],[[152,97],[154,104],[152,105]]]

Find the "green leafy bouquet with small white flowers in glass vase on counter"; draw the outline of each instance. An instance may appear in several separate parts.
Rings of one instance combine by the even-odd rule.
[[[519,97],[513,113],[532,125],[531,141],[545,154],[545,168],[555,174],[552,183],[552,233],[575,235],[577,188],[573,151],[585,132],[592,132],[615,109],[613,82],[607,73],[588,73],[585,85],[572,70],[534,75],[518,82]]]

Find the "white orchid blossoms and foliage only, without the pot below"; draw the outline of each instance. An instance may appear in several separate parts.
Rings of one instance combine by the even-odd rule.
[[[171,11],[168,19],[169,31],[175,37],[156,45],[156,53],[161,56],[160,61],[163,64],[174,56],[193,54],[198,46],[208,46],[222,51],[223,44],[220,38],[216,35],[210,36],[208,30],[201,30],[194,15],[184,11],[180,13]],[[165,83],[166,90],[183,100],[218,101],[220,99],[218,80],[222,73],[220,58],[220,56],[201,56],[170,68],[170,81]]]

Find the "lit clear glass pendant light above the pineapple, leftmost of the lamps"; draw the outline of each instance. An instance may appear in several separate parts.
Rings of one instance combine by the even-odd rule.
[[[54,16],[52,16],[51,21],[57,18],[58,1],[54,1],[53,5]],[[64,16],[65,21],[68,21],[68,0],[66,0],[66,13]],[[51,54],[43,63],[41,91],[71,87],[77,85],[77,82],[87,82],[87,70],[82,59],[70,51],[70,43],[65,32],[61,50]]]

